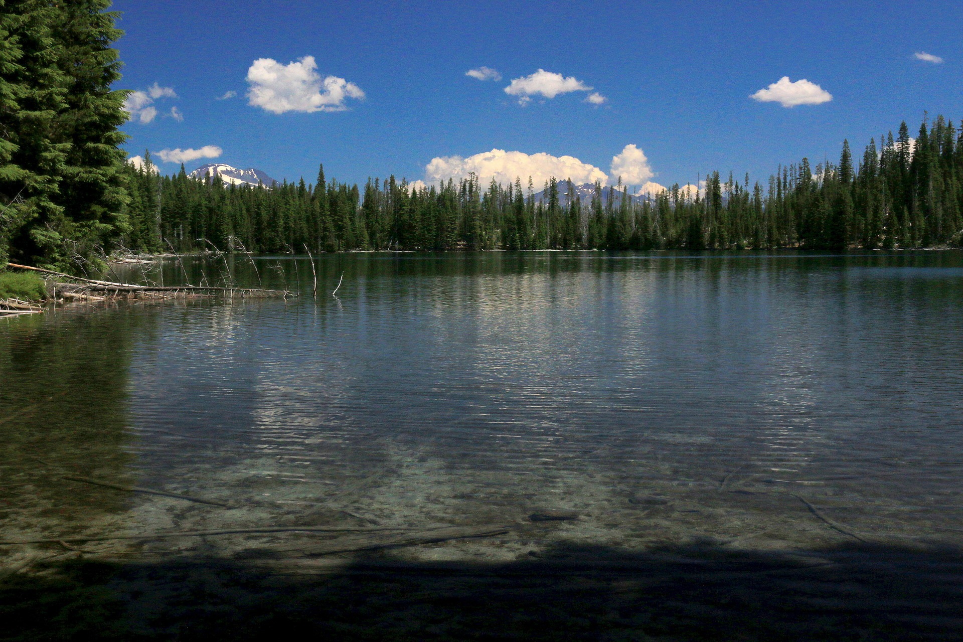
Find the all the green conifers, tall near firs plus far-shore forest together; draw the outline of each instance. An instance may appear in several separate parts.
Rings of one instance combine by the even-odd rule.
[[[708,176],[651,198],[568,181],[413,189],[303,180],[272,189],[160,176],[126,163],[112,90],[120,37],[109,0],[0,0],[0,270],[82,272],[118,246],[148,251],[728,249],[963,243],[963,134],[942,116],[903,123],[854,159],[806,159],[765,183]],[[148,155],[149,156],[149,155]],[[535,190],[539,190],[535,193]],[[692,197],[690,197],[692,196]],[[93,264],[91,266],[91,264]]]

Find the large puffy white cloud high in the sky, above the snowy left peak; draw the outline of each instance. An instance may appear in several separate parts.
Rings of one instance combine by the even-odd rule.
[[[364,91],[344,78],[317,72],[314,56],[304,56],[296,63],[280,64],[271,58],[259,58],[247,69],[247,104],[271,112],[343,112],[348,98],[361,100]]]

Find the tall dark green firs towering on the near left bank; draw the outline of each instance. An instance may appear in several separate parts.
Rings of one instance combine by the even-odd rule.
[[[127,233],[108,0],[0,0],[0,266],[83,270]]]

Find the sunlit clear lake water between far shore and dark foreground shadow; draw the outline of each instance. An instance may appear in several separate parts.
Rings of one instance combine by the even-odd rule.
[[[149,276],[214,283],[226,266],[300,296],[0,321],[4,538],[511,524],[406,553],[492,560],[561,542],[960,541],[960,252],[316,260],[317,300],[306,259],[169,262]],[[579,518],[528,518],[552,510]]]

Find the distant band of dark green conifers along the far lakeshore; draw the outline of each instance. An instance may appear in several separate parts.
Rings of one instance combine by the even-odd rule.
[[[303,179],[273,189],[159,176],[127,167],[130,248],[312,252],[402,249],[845,249],[959,245],[963,135],[943,116],[905,123],[854,161],[807,159],[765,184],[714,172],[703,193],[673,186],[636,199],[596,184],[585,199],[569,181],[535,194],[531,181],[481,185],[470,177],[413,189],[394,177],[363,187]],[[149,158],[149,155],[148,155]]]

